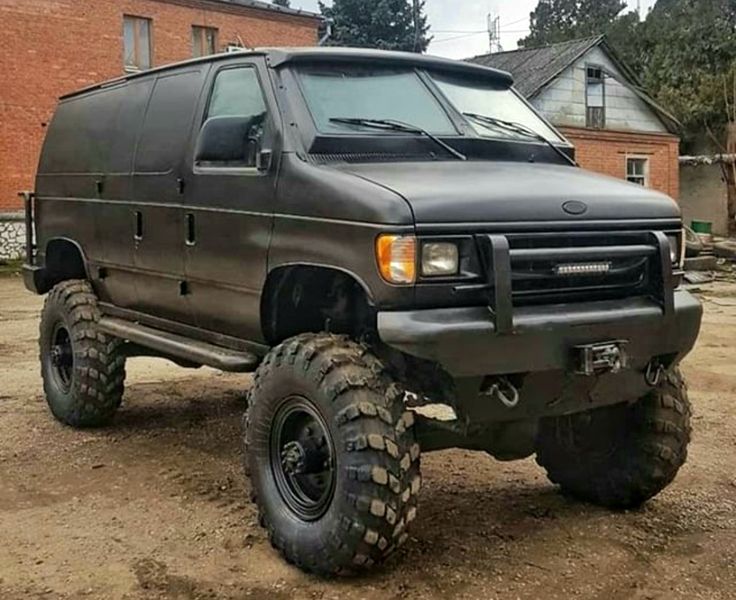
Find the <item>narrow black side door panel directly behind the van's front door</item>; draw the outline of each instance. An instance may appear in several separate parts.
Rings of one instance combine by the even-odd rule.
[[[208,65],[162,73],[146,110],[131,178],[137,310],[193,323],[185,281],[185,156]]]

